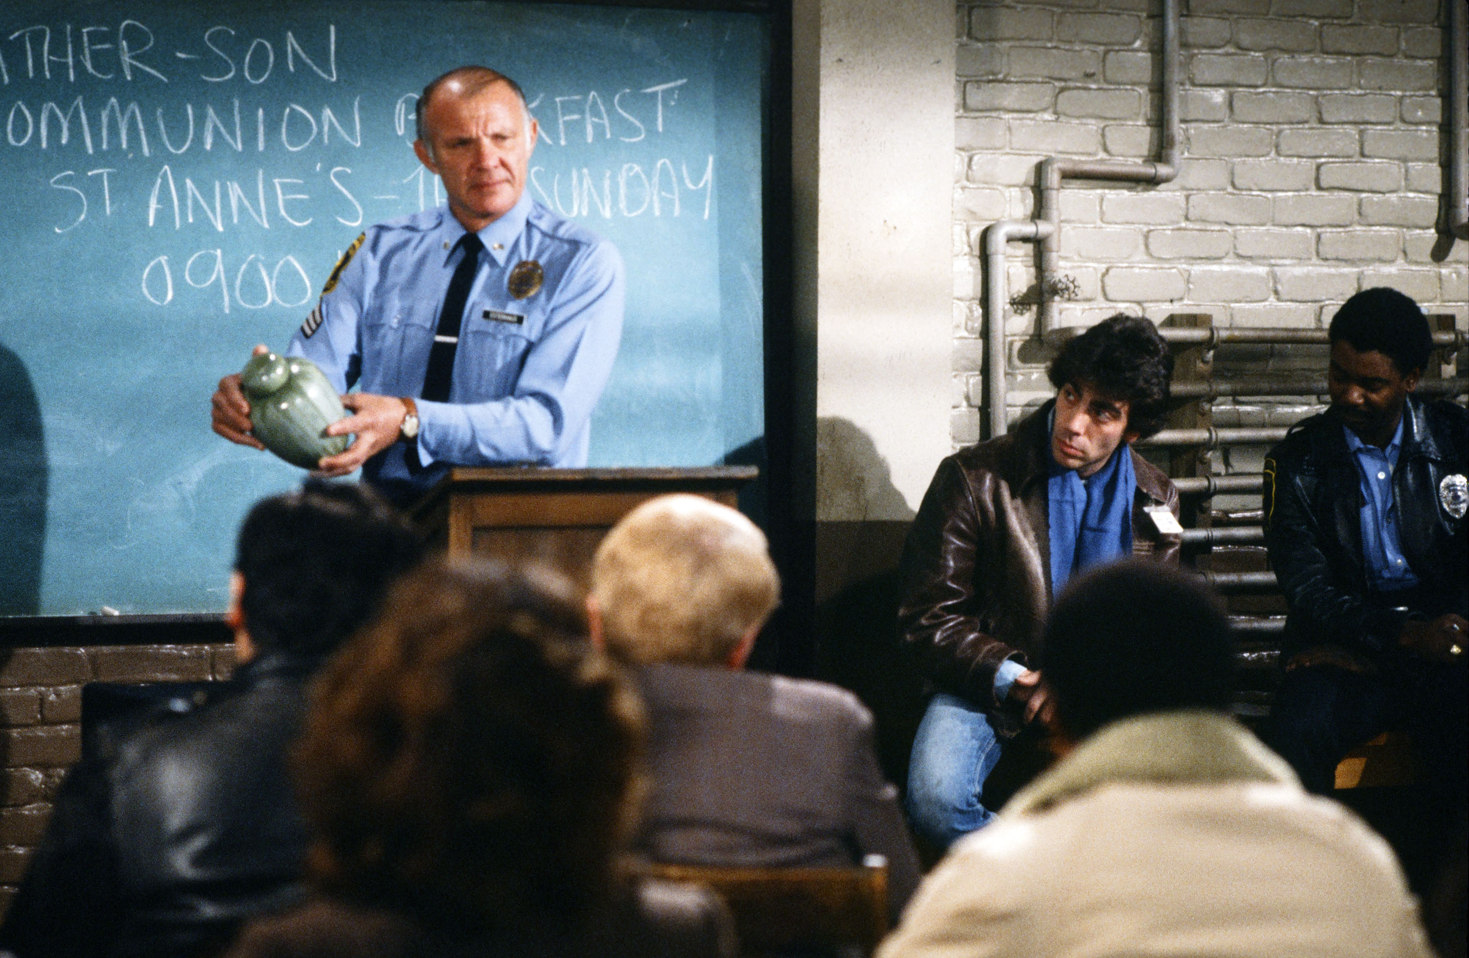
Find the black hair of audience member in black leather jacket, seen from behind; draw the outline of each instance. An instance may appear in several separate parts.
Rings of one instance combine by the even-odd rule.
[[[263,652],[331,652],[422,554],[413,526],[364,485],[311,479],[261,500],[235,544],[251,642]]]

